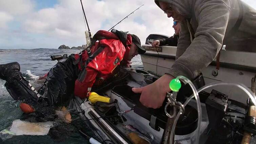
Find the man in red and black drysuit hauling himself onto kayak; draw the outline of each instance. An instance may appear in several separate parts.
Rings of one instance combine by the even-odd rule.
[[[145,53],[136,35],[113,29],[99,30],[92,44],[79,54],[71,54],[51,68],[43,86],[37,92],[22,77],[17,62],[0,65],[0,78],[15,100],[45,100],[50,105],[63,105],[72,95],[86,98],[93,85],[100,85],[112,77],[118,67]]]

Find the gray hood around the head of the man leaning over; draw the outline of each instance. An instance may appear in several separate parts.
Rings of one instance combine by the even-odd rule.
[[[191,8],[194,7],[197,0],[155,0],[158,7],[160,7],[160,1],[169,3],[172,7],[177,7],[180,9],[186,16],[190,16],[192,10]]]

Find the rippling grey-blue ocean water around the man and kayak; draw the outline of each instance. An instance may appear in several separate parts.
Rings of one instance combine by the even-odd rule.
[[[0,64],[9,62],[19,62],[21,72],[34,87],[40,86],[36,79],[37,76],[46,74],[57,61],[51,61],[51,55],[70,55],[79,53],[78,49],[0,49]],[[132,60],[132,67],[143,69],[140,56]],[[5,81],[0,79],[0,131],[12,125],[12,122],[22,117],[22,111],[19,108],[20,102],[14,101],[4,87]],[[83,123],[79,126],[83,127]],[[68,126],[67,126],[68,127]],[[85,125],[84,125],[85,127]],[[90,129],[87,129],[90,133]],[[77,131],[73,131],[62,141],[57,141],[50,136],[14,136],[2,141],[0,144],[87,144]]]

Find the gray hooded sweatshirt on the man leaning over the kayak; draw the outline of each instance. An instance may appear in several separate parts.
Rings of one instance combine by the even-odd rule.
[[[159,1],[179,8],[186,18],[181,22],[176,61],[169,71],[174,77],[182,75],[193,80],[215,59],[222,44],[227,50],[256,52],[256,11],[246,3],[238,0],[155,0],[158,6]]]

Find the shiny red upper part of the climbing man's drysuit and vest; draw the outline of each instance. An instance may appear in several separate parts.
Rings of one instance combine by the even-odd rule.
[[[105,30],[99,30],[94,35],[95,39],[98,42],[91,46],[90,55],[86,50],[75,55],[76,60],[82,60],[81,65],[80,62],[78,63],[81,72],[75,82],[74,89],[75,96],[80,98],[88,97],[96,78],[104,81],[112,76],[113,70],[128,56],[132,44],[130,35],[127,35],[126,44],[124,45],[117,35]]]

